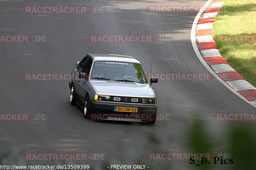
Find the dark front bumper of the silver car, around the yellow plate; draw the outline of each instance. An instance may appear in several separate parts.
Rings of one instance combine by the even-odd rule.
[[[117,120],[135,122],[156,121],[157,105],[111,103],[89,100],[91,118],[95,120]],[[138,107],[138,112],[116,112],[114,106]]]

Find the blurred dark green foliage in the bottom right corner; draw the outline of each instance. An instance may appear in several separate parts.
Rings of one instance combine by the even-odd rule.
[[[228,129],[224,129],[227,135],[224,139],[216,141],[211,134],[203,128],[202,122],[194,121],[189,130],[188,145],[194,153],[228,153],[228,159],[233,159],[233,164],[220,164],[221,161],[211,159],[210,164],[195,166],[195,169],[232,169],[253,170],[256,161],[256,139],[253,125],[249,122],[232,122]],[[214,146],[214,147],[213,147]],[[216,150],[216,148],[219,148]],[[217,157],[218,154],[215,154]],[[223,158],[224,159],[224,158]],[[228,161],[227,161],[228,162]],[[195,164],[201,164],[201,160]]]

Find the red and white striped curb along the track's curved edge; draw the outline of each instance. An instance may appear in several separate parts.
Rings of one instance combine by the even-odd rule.
[[[222,84],[235,92],[243,100],[256,107],[256,88],[228,65],[220,55],[216,43],[212,38],[212,24],[222,5],[225,4],[225,1],[226,0],[208,0],[204,4],[204,7],[207,6],[208,8],[204,11],[200,10],[196,15],[191,30],[191,42],[196,55],[204,66],[219,79]]]

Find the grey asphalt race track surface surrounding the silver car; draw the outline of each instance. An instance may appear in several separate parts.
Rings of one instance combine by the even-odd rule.
[[[24,161],[24,153],[104,154],[105,160],[74,161],[91,167],[145,164],[148,167],[192,169],[185,160],[147,160],[148,153],[188,153],[193,119],[204,121],[214,139],[225,137],[228,122],[216,113],[256,113],[217,79],[159,81],[153,84],[158,103],[154,125],[85,120],[70,105],[68,81],[24,81],[26,73],[70,73],[86,53],[136,57],[152,73],[209,73],[196,56],[190,31],[196,13],[147,13],[147,6],[202,6],[206,1],[0,1],[0,34],[46,36],[45,42],[0,43],[0,113],[45,114],[46,120],[1,121],[0,156],[11,163],[56,165],[58,161]],[[24,6],[104,7],[104,13],[24,14]],[[89,42],[89,35],[169,35],[169,42]],[[160,118],[160,117],[158,117]],[[246,122],[245,122],[246,123]],[[217,152],[221,148],[214,146]],[[138,161],[139,160],[139,161]],[[67,162],[71,164],[70,162]],[[25,163],[24,163],[25,164]]]

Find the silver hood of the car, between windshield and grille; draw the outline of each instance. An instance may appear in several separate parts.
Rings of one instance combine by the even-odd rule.
[[[148,84],[92,80],[92,85],[98,94],[127,97],[155,97]]]

